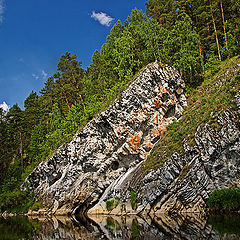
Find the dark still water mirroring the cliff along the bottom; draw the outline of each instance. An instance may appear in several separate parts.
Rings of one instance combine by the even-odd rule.
[[[132,216],[0,218],[0,239],[239,239],[240,216]]]

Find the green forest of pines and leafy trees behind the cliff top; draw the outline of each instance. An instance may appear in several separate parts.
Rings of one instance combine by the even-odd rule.
[[[85,70],[70,52],[39,93],[8,112],[0,108],[0,209],[32,197],[19,190],[27,175],[104,110],[147,64],[181,72],[187,91],[240,54],[240,0],[149,0],[117,21]]]

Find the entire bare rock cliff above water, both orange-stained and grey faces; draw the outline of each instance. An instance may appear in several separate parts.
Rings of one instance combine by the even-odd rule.
[[[228,72],[231,79],[238,68]],[[218,79],[218,86],[225,80]],[[237,94],[240,112],[239,100]],[[146,169],[154,145],[186,106],[180,74],[156,62],[147,66],[106,111],[29,175],[24,186],[43,203],[35,214],[204,214],[209,194],[240,178],[239,112],[213,112],[217,128],[196,126],[193,145],[183,141],[184,152]]]

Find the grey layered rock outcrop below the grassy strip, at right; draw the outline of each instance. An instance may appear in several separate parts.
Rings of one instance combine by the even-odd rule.
[[[182,143],[185,154],[173,153],[159,168],[147,174],[142,164],[129,169],[112,183],[88,213],[205,215],[210,193],[239,186],[239,94],[235,96],[235,103],[237,110],[229,108],[211,114],[218,128],[209,124],[197,128],[194,147]]]

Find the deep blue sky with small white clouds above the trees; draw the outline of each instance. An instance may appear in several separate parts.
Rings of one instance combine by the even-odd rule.
[[[21,108],[39,92],[65,52],[84,69],[118,19],[146,0],[0,0],[0,107]]]

